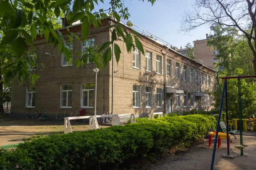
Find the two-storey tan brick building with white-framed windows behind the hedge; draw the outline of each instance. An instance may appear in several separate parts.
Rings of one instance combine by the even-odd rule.
[[[66,43],[73,54],[90,46],[100,47],[111,41],[109,21],[102,20],[99,28],[92,28],[88,40],[73,40]],[[126,27],[130,32],[131,28]],[[62,34],[65,28],[59,29]],[[81,38],[81,24],[70,28]],[[199,62],[189,59],[172,48],[141,35],[145,56],[138,50],[127,53],[125,43],[118,39],[122,51],[119,62],[114,63],[114,113],[148,114],[152,112],[179,112],[195,108],[212,110],[212,99],[208,95],[215,86],[215,71]],[[86,108],[94,112],[95,64],[84,64],[77,69],[74,63],[81,55],[73,55],[67,62],[58,48],[47,44],[44,36],[34,41],[40,79],[31,87],[29,82],[19,86],[17,79],[12,81],[12,113],[28,113],[28,109],[42,110],[42,113],[56,114]],[[104,52],[104,51],[103,51]],[[54,57],[47,55],[51,54]],[[32,54],[30,54],[32,56]],[[44,67],[41,67],[41,63]],[[112,64],[109,63],[97,76],[97,113],[111,113]],[[164,76],[166,75],[166,76]]]

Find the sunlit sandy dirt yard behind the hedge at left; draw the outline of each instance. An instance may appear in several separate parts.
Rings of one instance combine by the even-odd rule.
[[[89,123],[70,121],[73,131],[89,130]],[[108,127],[108,125],[99,127]],[[64,133],[64,120],[24,119],[0,116],[0,146],[17,144],[33,135]]]

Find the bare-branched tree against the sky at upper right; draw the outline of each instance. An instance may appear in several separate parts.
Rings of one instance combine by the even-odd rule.
[[[189,32],[204,24],[236,28],[247,39],[253,53],[256,74],[256,2],[255,0],[195,0],[193,10],[185,11],[181,31]]]

